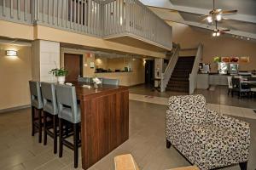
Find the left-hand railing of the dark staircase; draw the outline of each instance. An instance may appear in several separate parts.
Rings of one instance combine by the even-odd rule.
[[[160,91],[161,92],[165,92],[166,91],[166,86],[169,82],[169,79],[172,76],[172,71],[175,68],[175,65],[177,63],[177,59],[178,59],[178,55],[179,55],[179,50],[180,50],[180,45],[179,44],[175,44],[175,46],[173,47],[173,53],[172,53],[172,57],[169,60],[169,63],[166,67],[166,71],[164,73],[161,74],[161,83],[160,83]]]

